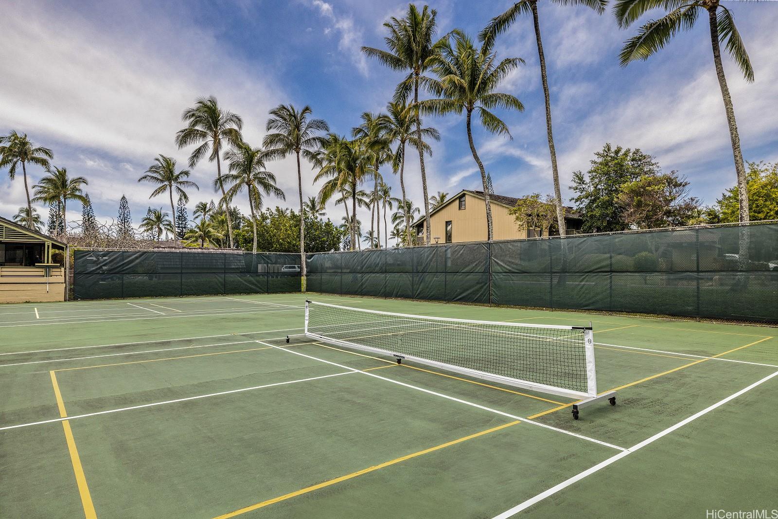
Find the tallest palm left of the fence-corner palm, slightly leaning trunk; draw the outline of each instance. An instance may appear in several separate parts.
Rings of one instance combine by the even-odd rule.
[[[216,160],[216,179],[219,181],[219,190],[222,191],[222,200],[224,200],[226,191],[221,184],[222,163],[219,155],[225,143],[234,144],[243,139],[240,135],[243,119],[240,115],[223,110],[219,107],[216,97],[209,96],[198,97],[194,107],[184,110],[181,120],[187,123],[187,128],[176,133],[178,149],[193,144],[199,145],[189,156],[191,168],[210,152],[208,161]],[[230,240],[230,248],[233,248],[233,223],[230,221],[230,211],[227,211],[227,236]]]

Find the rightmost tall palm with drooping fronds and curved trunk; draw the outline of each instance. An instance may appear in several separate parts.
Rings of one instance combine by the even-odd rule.
[[[727,52],[740,67],[743,77],[748,82],[754,81],[754,69],[745,44],[741,40],[738,28],[729,9],[719,4],[719,0],[680,0],[665,2],[662,0],[617,0],[613,12],[619,27],[632,25],[643,13],[650,9],[671,9],[660,19],[650,20],[643,24],[636,36],[626,40],[621,54],[620,64],[629,65],[639,59],[647,60],[651,54],[663,48],[679,29],[689,30],[694,26],[700,12],[707,11],[710,26],[710,44],[713,47],[713,65],[719,80],[721,97],[724,100],[724,111],[729,124],[734,169],[738,175],[738,202],[740,205],[740,221],[748,222],[748,181],[743,164],[743,153],[740,149],[738,124],[734,119],[734,107],[730,96],[727,78],[724,75],[724,65],[721,64],[720,42],[724,42]],[[719,11],[719,9],[721,9]]]

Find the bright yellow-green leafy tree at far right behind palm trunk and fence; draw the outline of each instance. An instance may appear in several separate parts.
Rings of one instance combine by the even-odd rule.
[[[778,219],[778,163],[748,163],[748,219]],[[734,223],[740,216],[738,186],[727,189],[706,211],[709,223]]]

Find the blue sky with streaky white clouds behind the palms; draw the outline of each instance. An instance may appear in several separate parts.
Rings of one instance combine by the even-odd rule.
[[[778,161],[778,2],[723,2],[734,12],[755,68],[745,82],[729,58],[724,68],[738,117],[746,160]],[[419,4],[422,5],[422,4]],[[429,2],[440,30],[459,27],[474,37],[510,2]],[[152,189],[136,179],[163,153],[185,166],[188,151],[173,135],[180,114],[198,96],[215,95],[244,117],[244,136],[255,146],[265,135],[268,110],[279,103],[310,104],[334,132],[347,134],[365,111],[382,110],[400,79],[366,58],[359,47],[382,47],[381,24],[401,16],[406,2],[382,0],[234,0],[205,2],[26,2],[6,0],[0,19],[0,132],[26,132],[54,150],[54,165],[89,179],[88,192],[100,219],[115,217],[127,195],[137,224]],[[619,30],[610,12],[539,2],[552,89],[554,132],[562,191],[575,170],[586,170],[605,144],[640,148],[664,170],[691,181],[692,194],[713,203],[734,184],[734,167],[706,19],[682,33],[646,62],[620,68],[623,40],[636,27]],[[650,13],[648,18],[656,17]],[[524,103],[522,113],[502,113],[513,140],[480,128],[475,143],[501,195],[552,191],[545,115],[530,19],[520,19],[500,37],[499,56],[524,58],[504,92]],[[430,195],[480,188],[469,153],[464,118],[429,119],[442,140],[433,143]],[[266,198],[266,206],[294,205],[292,160],[268,164],[289,202]],[[201,190],[191,206],[215,198],[216,166],[193,171]],[[32,181],[42,170],[30,168]],[[314,195],[314,172],[303,171],[304,195]],[[421,205],[418,161],[406,167],[408,194]],[[389,168],[384,172],[399,195]],[[0,215],[23,205],[21,179],[0,177]],[[68,219],[80,208],[68,206]],[[247,203],[239,203],[247,210]],[[43,208],[40,208],[43,209]],[[328,216],[342,218],[328,206]],[[47,214],[43,210],[44,216]],[[361,216],[363,222],[369,215]]]

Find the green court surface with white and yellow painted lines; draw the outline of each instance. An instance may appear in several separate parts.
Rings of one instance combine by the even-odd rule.
[[[569,398],[312,342],[306,297],[591,321],[617,404],[573,420]],[[309,293],[9,304],[0,337],[2,518],[778,509],[776,328]]]

